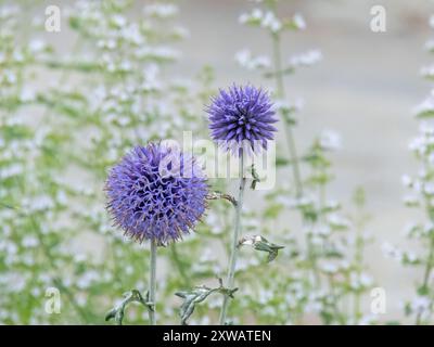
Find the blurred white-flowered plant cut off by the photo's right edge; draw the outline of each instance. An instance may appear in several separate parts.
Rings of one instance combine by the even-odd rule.
[[[433,20],[431,20],[431,24]],[[432,51],[431,41],[426,42],[427,51]],[[421,75],[432,79],[432,67],[423,67]],[[432,324],[434,313],[434,98],[433,91],[414,107],[414,116],[419,123],[419,134],[411,140],[409,149],[419,163],[418,172],[403,176],[403,184],[409,191],[405,196],[406,206],[418,209],[419,220],[407,226],[406,234],[411,244],[419,244],[419,250],[403,250],[386,243],[383,250],[405,267],[419,270],[421,277],[416,284],[414,296],[403,306],[411,323]]]

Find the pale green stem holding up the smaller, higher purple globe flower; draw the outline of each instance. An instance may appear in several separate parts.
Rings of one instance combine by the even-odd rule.
[[[233,239],[231,245],[231,256],[229,260],[229,271],[227,278],[227,286],[228,288],[233,287],[234,277],[235,277],[235,267],[237,267],[237,258],[238,258],[238,243],[240,240],[241,233],[241,213],[243,208],[243,200],[244,200],[244,188],[245,188],[245,177],[244,177],[244,155],[241,153],[240,155],[240,188],[239,188],[239,195],[237,202],[237,210],[235,210],[235,228],[233,231]],[[221,306],[220,312],[220,324],[224,325],[226,322],[226,314],[228,311],[230,297],[225,295],[224,304]]]

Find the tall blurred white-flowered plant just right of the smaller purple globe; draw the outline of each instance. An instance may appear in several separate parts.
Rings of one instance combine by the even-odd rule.
[[[257,7],[251,12],[243,13],[239,18],[241,24],[259,27],[271,34],[272,43],[275,48],[278,48],[273,52],[273,56],[270,59],[261,55],[256,57],[252,55],[251,51],[243,50],[237,54],[235,59],[241,66],[250,70],[266,69],[264,76],[273,78],[277,82],[278,99],[275,106],[285,121],[284,126],[290,128],[286,132],[286,137],[289,137],[286,140],[290,143],[289,151],[291,153],[294,151],[292,146],[295,146],[294,139],[291,139],[292,128],[296,125],[294,113],[303,107],[303,102],[289,102],[279,86],[284,83],[284,76],[292,74],[296,68],[311,66],[321,61],[322,53],[319,50],[310,50],[283,60],[285,65],[280,65],[281,56],[276,54],[280,54],[281,35],[286,29],[305,29],[306,23],[299,14],[284,20],[278,17],[277,13],[278,2],[265,1],[261,2],[260,8]],[[271,274],[263,275],[261,284],[266,286],[266,290],[259,293],[252,291],[250,294],[256,298],[256,305],[259,306],[257,310],[268,312],[270,317],[282,317],[281,322],[285,324],[299,323],[306,316],[311,314],[320,318],[327,324],[372,322],[359,308],[361,296],[368,293],[373,285],[373,280],[366,272],[362,264],[363,249],[370,240],[358,230],[362,222],[355,220],[356,217],[348,218],[341,205],[328,198],[327,195],[329,182],[333,178],[330,172],[331,162],[327,154],[340,147],[341,137],[335,131],[323,130],[315,139],[306,154],[303,156],[292,154],[290,157],[289,166],[290,170],[295,172],[294,181],[289,187],[278,188],[276,193],[266,196],[270,207],[264,214],[260,226],[267,226],[272,219],[279,218],[280,214],[285,214],[288,210],[299,213],[304,221],[305,247],[290,241],[291,237],[285,237],[286,244],[291,242],[294,247],[284,249],[281,256],[288,257],[289,264],[295,264],[294,269],[286,270],[288,278],[278,277],[276,279]],[[284,163],[284,160],[282,162]],[[294,166],[298,168],[292,169],[291,167]],[[302,176],[302,169],[308,169],[310,175]],[[296,175],[302,176],[298,178],[299,182],[297,182]],[[360,214],[362,213],[361,205],[358,203]],[[267,229],[267,227],[263,228]],[[276,231],[276,227],[269,228]],[[358,232],[354,236],[356,229]],[[253,230],[255,230],[254,227]],[[288,228],[284,230],[289,232]],[[245,268],[247,262],[242,261],[242,266]],[[254,264],[252,266],[255,267]],[[254,271],[254,269],[251,268],[250,271]],[[320,284],[324,281],[326,284]],[[280,299],[281,290],[279,288],[281,287],[285,288],[283,294],[285,313],[280,311],[279,305],[270,304],[271,300]],[[343,305],[345,305],[344,298],[346,297],[352,297],[358,303],[353,314],[344,312]],[[255,305],[252,301],[244,298],[242,304],[246,308],[251,308]]]

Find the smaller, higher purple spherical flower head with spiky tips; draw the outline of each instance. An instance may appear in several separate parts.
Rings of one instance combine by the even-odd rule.
[[[253,86],[233,85],[220,90],[206,112],[213,140],[235,154],[266,150],[277,131],[268,93]]]

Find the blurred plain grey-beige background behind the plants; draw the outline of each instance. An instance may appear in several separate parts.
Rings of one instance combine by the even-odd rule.
[[[26,16],[41,15],[47,4],[54,2],[39,2]],[[60,1],[59,7],[72,3]],[[137,5],[145,3],[138,1]],[[179,1],[179,22],[190,35],[177,43],[181,59],[165,76],[192,76],[200,66],[209,65],[215,69],[215,86],[250,81],[268,87],[234,60],[244,48],[257,54],[271,51],[265,33],[239,24],[240,14],[254,4],[243,0]],[[370,9],[376,4],[386,9],[386,33],[370,29]],[[385,320],[401,316],[400,300],[412,295],[414,282],[422,275],[385,258],[382,244],[408,246],[405,226],[420,217],[403,204],[401,176],[418,168],[408,143],[418,130],[411,110],[430,90],[420,78],[420,68],[430,63],[423,47],[432,34],[432,10],[433,4],[423,0],[284,0],[280,7],[282,14],[301,13],[307,23],[305,30],[284,36],[283,55],[308,49],[319,49],[323,55],[319,64],[286,78],[289,99],[304,100],[296,141],[303,152],[321,129],[341,134],[342,146],[332,156],[335,180],[329,194],[345,204],[356,187],[366,190],[371,215],[367,229],[375,237],[367,262],[375,283],[387,293]],[[66,25],[61,33],[42,36],[61,54],[71,52],[74,34]],[[39,81],[38,88],[48,87],[56,75],[46,76],[47,85]],[[254,200],[247,204],[255,207]],[[297,232],[299,221],[286,216],[284,222]]]

